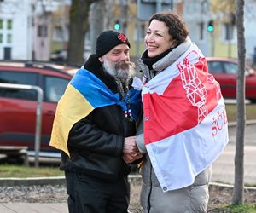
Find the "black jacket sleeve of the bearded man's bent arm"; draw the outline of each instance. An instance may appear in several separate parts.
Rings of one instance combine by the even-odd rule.
[[[83,118],[73,125],[68,137],[68,147],[80,152],[119,156],[123,153],[124,137],[99,130],[90,120]]]

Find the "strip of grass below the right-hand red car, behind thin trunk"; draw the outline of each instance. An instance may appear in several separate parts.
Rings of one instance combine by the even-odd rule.
[[[226,111],[228,121],[236,121],[236,104],[226,104]],[[246,105],[246,118],[247,120],[256,120],[256,104]]]

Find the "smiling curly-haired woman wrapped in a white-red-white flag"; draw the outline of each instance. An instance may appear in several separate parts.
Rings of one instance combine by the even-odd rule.
[[[137,146],[145,154],[145,212],[206,212],[211,164],[228,141],[218,83],[188,34],[177,14],[154,14],[137,61],[144,77]]]

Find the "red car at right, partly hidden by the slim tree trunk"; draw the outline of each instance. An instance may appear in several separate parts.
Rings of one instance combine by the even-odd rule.
[[[224,98],[236,99],[236,79],[238,72],[238,60],[207,57],[209,72],[220,84]],[[246,99],[256,102],[256,72],[246,65]]]

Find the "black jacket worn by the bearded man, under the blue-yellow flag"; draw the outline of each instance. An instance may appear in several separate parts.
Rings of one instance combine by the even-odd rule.
[[[103,71],[96,55],[90,55],[84,69],[100,78],[113,93],[118,92],[114,78]],[[135,122],[125,118],[120,106],[96,108],[73,125],[67,141],[70,158],[62,152],[60,168],[113,181],[126,176],[130,167],[122,158],[123,144],[125,137],[135,133]]]

